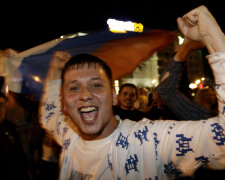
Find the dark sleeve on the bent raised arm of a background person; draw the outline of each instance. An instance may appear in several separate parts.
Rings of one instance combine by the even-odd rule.
[[[210,112],[187,98],[178,89],[184,67],[184,62],[171,60],[164,71],[164,73],[169,72],[169,77],[162,81],[157,87],[158,96],[179,119],[207,119],[210,117]]]

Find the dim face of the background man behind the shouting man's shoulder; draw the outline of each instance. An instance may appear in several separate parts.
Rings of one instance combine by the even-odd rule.
[[[125,110],[132,110],[136,99],[136,89],[125,86],[119,94],[120,107]]]

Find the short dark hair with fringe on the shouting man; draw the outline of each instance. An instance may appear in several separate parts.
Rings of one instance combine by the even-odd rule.
[[[96,67],[96,64],[99,64],[104,69],[112,86],[112,71],[110,67],[103,60],[91,54],[78,54],[71,57],[69,61],[66,62],[61,74],[62,85],[64,83],[65,73],[68,69],[70,69],[72,66],[75,66],[77,69],[83,68],[86,64],[88,65],[88,68]]]

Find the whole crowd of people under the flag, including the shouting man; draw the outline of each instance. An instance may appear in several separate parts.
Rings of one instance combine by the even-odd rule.
[[[116,95],[101,59],[56,52],[41,102],[1,93],[1,169],[7,179],[224,176],[225,36],[204,6],[177,22],[184,43],[154,90],[126,83]],[[191,99],[179,83],[188,56],[201,48],[210,53],[217,86]]]

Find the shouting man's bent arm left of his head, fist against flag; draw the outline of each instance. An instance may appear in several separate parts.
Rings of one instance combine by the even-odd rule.
[[[65,115],[61,110],[61,70],[70,58],[66,52],[57,51],[53,54],[39,107],[39,118],[42,128],[47,130],[55,141],[62,145]]]

